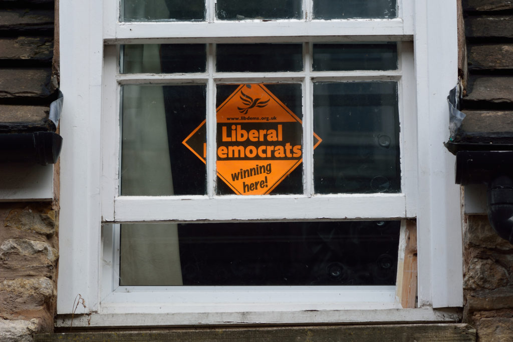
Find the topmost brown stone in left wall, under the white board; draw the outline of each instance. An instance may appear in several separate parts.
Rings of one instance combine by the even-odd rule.
[[[39,234],[55,234],[55,211],[48,207],[27,206],[13,209],[5,220],[5,227],[32,231]]]

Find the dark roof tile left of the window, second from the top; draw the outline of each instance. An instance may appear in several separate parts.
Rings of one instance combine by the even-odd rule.
[[[1,31],[51,31],[53,30],[53,10],[1,9]]]

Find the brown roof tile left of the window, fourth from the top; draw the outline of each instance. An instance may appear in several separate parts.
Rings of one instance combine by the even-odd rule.
[[[51,95],[50,68],[0,69],[0,98],[44,98]]]

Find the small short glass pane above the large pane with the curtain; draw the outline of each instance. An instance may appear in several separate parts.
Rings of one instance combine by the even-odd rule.
[[[123,45],[121,73],[204,72],[205,44]]]

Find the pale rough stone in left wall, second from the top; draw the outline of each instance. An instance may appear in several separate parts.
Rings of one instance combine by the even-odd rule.
[[[27,276],[53,277],[58,252],[50,244],[11,238],[0,246],[0,280]]]

